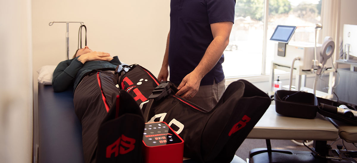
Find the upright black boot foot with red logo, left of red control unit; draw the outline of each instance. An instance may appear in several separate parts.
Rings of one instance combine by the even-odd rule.
[[[98,131],[97,163],[141,162],[144,119],[134,99],[120,91]]]

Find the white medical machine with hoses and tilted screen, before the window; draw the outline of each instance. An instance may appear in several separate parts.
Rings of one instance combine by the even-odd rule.
[[[316,74],[313,85],[313,94],[316,94],[316,84],[319,76],[325,69],[332,67],[331,57],[335,50],[335,43],[331,37],[325,37],[323,44],[317,45],[316,34],[317,29],[321,29],[321,24],[316,24],[315,27],[315,43],[308,42],[291,42],[296,26],[278,25],[275,28],[270,40],[277,41],[275,44],[275,54],[273,63],[280,66],[290,67],[290,81],[288,89],[291,90],[293,69],[310,70]],[[295,61],[297,62],[296,65]],[[300,88],[298,88],[300,90]]]

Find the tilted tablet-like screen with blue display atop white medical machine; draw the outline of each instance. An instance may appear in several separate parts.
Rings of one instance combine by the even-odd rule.
[[[282,26],[278,25],[275,28],[270,40],[278,41],[282,43],[288,43],[292,34],[294,33],[296,26]]]

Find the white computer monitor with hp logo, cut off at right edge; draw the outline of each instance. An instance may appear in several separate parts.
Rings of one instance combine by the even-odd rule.
[[[343,61],[357,62],[357,25],[343,25]]]

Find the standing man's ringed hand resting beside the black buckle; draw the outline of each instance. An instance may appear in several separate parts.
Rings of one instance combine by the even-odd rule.
[[[182,79],[180,85],[178,85],[176,95],[181,96],[184,99],[191,99],[197,94],[201,80],[201,75],[197,74],[195,71],[187,74],[186,77]]]

